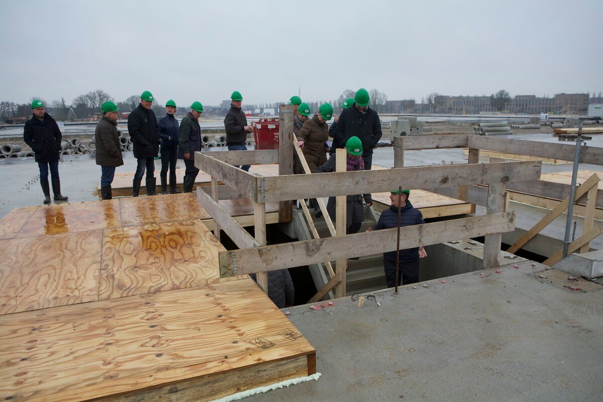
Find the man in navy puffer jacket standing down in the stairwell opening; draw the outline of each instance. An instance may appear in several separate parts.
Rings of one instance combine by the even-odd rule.
[[[418,209],[412,207],[408,196],[409,190],[402,190],[400,193],[400,227],[424,224],[423,215]],[[398,190],[390,194],[391,206],[381,213],[379,221],[374,230],[391,229],[398,227]],[[369,228],[367,231],[371,231]],[[398,286],[418,282],[418,260],[427,257],[425,248],[414,247],[400,250]],[[385,281],[387,287],[396,286],[396,251],[383,253],[383,268],[385,271]]]

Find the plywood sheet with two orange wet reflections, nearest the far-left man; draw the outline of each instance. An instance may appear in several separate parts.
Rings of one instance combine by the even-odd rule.
[[[121,226],[119,200],[43,206],[31,214],[15,237],[75,233]]]

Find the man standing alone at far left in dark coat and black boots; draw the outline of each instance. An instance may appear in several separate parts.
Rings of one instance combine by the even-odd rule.
[[[44,111],[44,104],[39,99],[31,102],[33,117],[25,122],[23,140],[36,154],[36,162],[40,169],[40,184],[44,192],[44,204],[50,203],[48,186],[48,168],[52,177],[52,192],[55,201],[66,201],[61,194],[61,181],[58,178],[58,159],[61,150],[61,130],[57,122]]]

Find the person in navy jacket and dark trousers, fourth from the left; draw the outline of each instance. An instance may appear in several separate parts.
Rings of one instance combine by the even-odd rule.
[[[176,160],[178,157],[178,121],[174,117],[176,102],[169,99],[165,102],[165,116],[157,123],[157,135],[161,139],[161,191],[168,193],[168,167],[169,167],[169,193],[176,194]]]

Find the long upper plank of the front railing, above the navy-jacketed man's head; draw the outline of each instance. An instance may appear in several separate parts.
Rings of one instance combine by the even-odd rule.
[[[376,193],[403,189],[432,189],[540,178],[540,161],[423,166],[402,169],[317,173],[264,178],[265,201]]]

